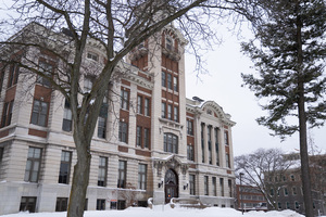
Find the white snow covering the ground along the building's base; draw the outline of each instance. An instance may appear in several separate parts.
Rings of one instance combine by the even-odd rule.
[[[189,216],[188,216],[189,215]],[[66,213],[17,213],[1,217],[65,217]],[[249,212],[242,216],[241,212],[233,208],[210,207],[204,209],[171,208],[170,206],[154,206],[153,209],[130,207],[125,210],[87,210],[84,217],[303,217],[293,210],[283,212]]]

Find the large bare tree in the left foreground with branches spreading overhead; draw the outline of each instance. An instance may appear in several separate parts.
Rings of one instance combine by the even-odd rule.
[[[209,43],[214,39],[215,34],[210,28],[212,20],[228,16],[224,11],[244,13],[238,3],[225,0],[16,0],[7,9],[16,13],[1,21],[1,67],[18,65],[21,75],[37,76],[50,87],[49,94],[55,90],[70,103],[78,161],[74,166],[67,216],[84,214],[90,142],[97,117],[114,75],[130,73],[122,62],[126,54],[173,21],[197,53],[202,44],[196,41]],[[10,37],[12,34],[15,35]],[[88,44],[101,50],[105,56],[101,64],[85,61]],[[40,64],[40,55],[47,56],[47,64]],[[200,63],[199,55],[197,60]],[[92,77],[92,87],[87,91],[80,87],[85,75]]]

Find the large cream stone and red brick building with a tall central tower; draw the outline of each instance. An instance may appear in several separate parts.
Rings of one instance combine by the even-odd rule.
[[[86,209],[146,206],[150,197],[154,204],[196,197],[234,207],[235,123],[213,101],[186,99],[187,41],[173,25],[160,34],[162,46],[151,37],[136,48],[120,64],[126,73],[110,86],[112,102],[91,143]],[[51,56],[28,52],[51,64]],[[103,60],[90,40],[85,63],[101,67]],[[68,107],[36,77],[20,74],[8,85],[12,71],[7,67],[1,80],[0,215],[65,210],[77,161]],[[86,88],[87,75],[80,82]]]

